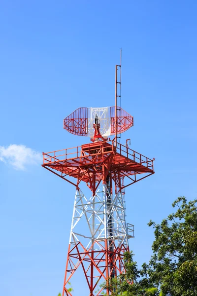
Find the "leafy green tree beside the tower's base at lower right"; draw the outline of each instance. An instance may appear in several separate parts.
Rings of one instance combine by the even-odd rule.
[[[126,273],[105,284],[112,295],[197,296],[197,200],[179,197],[172,207],[176,212],[161,224],[148,223],[155,229],[149,264],[138,269],[125,253]]]

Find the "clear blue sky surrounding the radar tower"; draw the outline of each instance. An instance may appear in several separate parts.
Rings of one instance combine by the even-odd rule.
[[[126,190],[139,265],[152,254],[147,222],[161,222],[176,197],[197,197],[196,11],[195,0],[0,2],[0,295],[62,292],[74,187],[39,155],[89,142],[63,119],[114,105],[120,47],[121,106],[134,117],[121,143],[155,157],[155,175]],[[32,150],[2,156],[9,145]],[[72,286],[87,296],[81,278]]]

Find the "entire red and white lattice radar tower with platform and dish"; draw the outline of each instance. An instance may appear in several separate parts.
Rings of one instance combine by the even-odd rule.
[[[79,108],[64,119],[64,128],[90,136],[93,143],[43,153],[42,166],[76,188],[63,296],[72,296],[68,282],[79,268],[89,296],[101,296],[100,283],[125,272],[123,257],[134,236],[134,226],[125,219],[125,187],[154,174],[154,159],[117,143],[117,134],[132,125],[133,117],[117,104]],[[82,192],[84,183],[90,196]]]

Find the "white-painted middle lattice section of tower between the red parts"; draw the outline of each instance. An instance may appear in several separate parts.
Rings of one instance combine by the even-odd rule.
[[[134,237],[134,226],[126,224],[125,220],[125,195],[118,192],[111,195],[110,204],[107,186],[102,185],[95,196],[89,199],[82,191],[76,190],[74,209],[70,231],[70,244],[75,245],[79,241],[94,250],[100,250],[102,242],[107,238],[113,240],[116,246],[128,245],[128,239]],[[112,235],[109,234],[109,217],[112,218]],[[99,244],[97,244],[99,242]]]

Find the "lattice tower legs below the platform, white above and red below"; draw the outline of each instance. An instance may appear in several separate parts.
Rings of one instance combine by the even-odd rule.
[[[99,284],[125,271],[123,255],[134,230],[125,221],[124,197],[121,191],[113,196],[107,185],[89,199],[76,190],[63,296],[72,295],[67,284],[78,268],[85,274],[90,296],[101,295]]]

